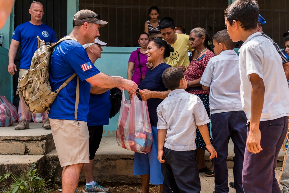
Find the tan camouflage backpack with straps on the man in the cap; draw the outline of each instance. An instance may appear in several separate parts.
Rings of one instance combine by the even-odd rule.
[[[32,58],[30,69],[21,77],[19,81],[19,97],[22,97],[30,112],[42,113],[47,110],[55,100],[57,94],[63,89],[75,76],[71,75],[56,91],[51,90],[49,83],[49,60],[54,47],[64,40],[75,40],[72,36],[65,36],[57,43],[49,45],[48,42],[42,41],[39,36],[38,49]],[[75,101],[75,119],[77,119],[77,108],[79,102],[79,77],[77,77],[76,101]]]

